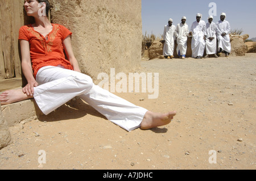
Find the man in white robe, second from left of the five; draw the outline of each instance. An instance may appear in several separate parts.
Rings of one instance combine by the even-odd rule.
[[[188,24],[186,23],[187,18],[183,16],[181,23],[177,24],[175,30],[175,36],[177,38],[177,54],[180,58],[185,59],[187,53],[187,41],[188,41]]]

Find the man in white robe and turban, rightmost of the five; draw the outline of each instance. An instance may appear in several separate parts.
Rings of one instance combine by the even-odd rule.
[[[226,57],[229,57],[229,53],[231,52],[231,44],[230,44],[230,24],[225,20],[226,14],[222,12],[220,21],[216,23],[216,35],[218,39],[218,55],[221,55],[222,50],[226,54]]]

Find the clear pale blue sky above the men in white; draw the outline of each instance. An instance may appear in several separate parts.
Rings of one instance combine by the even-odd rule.
[[[180,23],[182,16],[187,16],[187,24],[189,28],[196,20],[196,14],[203,14],[203,20],[207,23],[209,10],[216,4],[217,16],[214,16],[213,22],[220,20],[221,12],[226,13],[226,20],[230,23],[232,30],[243,29],[242,34],[249,34],[249,39],[256,37],[256,1],[230,1],[230,0],[142,0],[142,33],[147,34],[153,32],[156,36],[163,34],[164,26],[168,23],[168,19],[173,19],[176,26]]]

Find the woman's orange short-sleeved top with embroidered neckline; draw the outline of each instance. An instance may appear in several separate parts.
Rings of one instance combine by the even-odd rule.
[[[30,57],[34,77],[43,66],[62,65],[65,69],[73,70],[71,63],[65,59],[63,40],[72,35],[64,26],[52,24],[52,31],[44,37],[35,31],[31,24],[22,26],[19,30],[19,40],[30,43]]]

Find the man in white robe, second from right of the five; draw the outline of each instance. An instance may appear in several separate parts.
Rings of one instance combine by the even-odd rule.
[[[216,39],[216,24],[212,22],[213,16],[208,17],[208,23],[206,24],[205,34],[205,50],[207,55],[204,58],[208,58],[210,54],[214,54],[214,57],[218,58],[217,52],[217,39]]]

